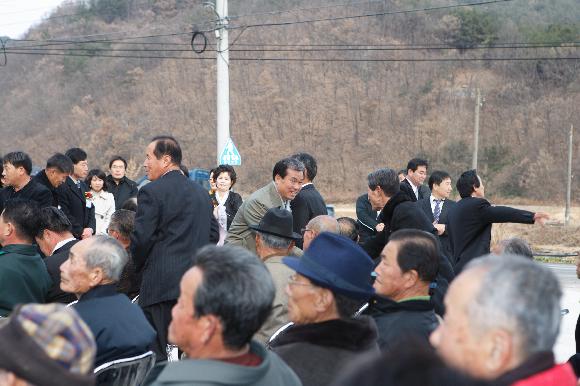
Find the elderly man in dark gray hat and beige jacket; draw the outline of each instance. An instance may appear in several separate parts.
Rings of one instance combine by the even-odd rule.
[[[254,339],[266,344],[270,336],[288,323],[288,297],[284,292],[288,277],[294,272],[282,263],[282,257],[291,253],[296,240],[301,236],[292,231],[292,213],[285,209],[269,209],[260,224],[250,225],[256,234],[256,252],[272,275],[276,296],[272,313]]]

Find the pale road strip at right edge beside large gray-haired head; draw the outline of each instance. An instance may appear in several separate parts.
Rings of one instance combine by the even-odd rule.
[[[568,360],[576,351],[574,330],[580,313],[580,279],[576,277],[576,266],[570,264],[545,264],[558,276],[564,296],[562,308],[567,308],[570,313],[562,317],[560,335],[556,341],[554,352],[556,360],[563,362]]]

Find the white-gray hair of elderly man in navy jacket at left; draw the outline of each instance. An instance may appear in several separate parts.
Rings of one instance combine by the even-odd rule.
[[[93,236],[87,252],[83,256],[88,268],[101,268],[107,279],[119,281],[127,264],[128,256],[121,244],[105,235]]]

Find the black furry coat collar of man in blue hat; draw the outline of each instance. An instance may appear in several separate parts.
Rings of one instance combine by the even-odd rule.
[[[366,316],[358,319],[333,319],[320,323],[294,325],[280,334],[272,347],[293,343],[335,347],[350,351],[364,351],[377,343],[377,327]]]

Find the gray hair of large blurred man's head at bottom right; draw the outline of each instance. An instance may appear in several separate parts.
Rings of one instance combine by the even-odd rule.
[[[525,360],[552,351],[560,330],[558,278],[549,269],[522,256],[488,255],[466,270],[482,269],[481,287],[468,308],[475,331],[501,327],[517,337]]]

